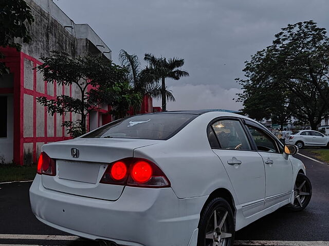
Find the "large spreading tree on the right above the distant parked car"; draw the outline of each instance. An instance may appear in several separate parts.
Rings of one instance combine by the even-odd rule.
[[[251,117],[290,116],[316,129],[328,115],[329,38],[312,20],[282,28],[271,46],[251,56],[237,100]]]

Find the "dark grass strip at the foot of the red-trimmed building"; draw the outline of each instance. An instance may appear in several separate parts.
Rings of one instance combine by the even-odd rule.
[[[33,180],[36,165],[0,165],[0,182]]]

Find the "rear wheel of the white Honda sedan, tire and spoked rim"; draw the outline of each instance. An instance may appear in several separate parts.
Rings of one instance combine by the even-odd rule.
[[[212,199],[200,216],[197,246],[231,246],[234,233],[234,216],[230,204],[223,198]]]

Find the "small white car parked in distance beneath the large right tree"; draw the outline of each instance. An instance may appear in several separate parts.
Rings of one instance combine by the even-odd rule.
[[[329,137],[321,132],[312,130],[296,131],[286,136],[286,144],[296,145],[299,149],[303,147],[327,147],[329,148]]]

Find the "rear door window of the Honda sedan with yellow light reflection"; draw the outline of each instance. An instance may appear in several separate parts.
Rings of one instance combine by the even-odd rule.
[[[238,120],[218,120],[212,124],[221,149],[251,150],[248,138]]]

